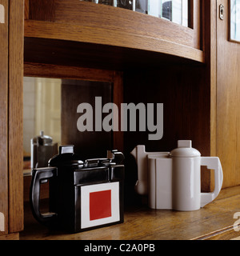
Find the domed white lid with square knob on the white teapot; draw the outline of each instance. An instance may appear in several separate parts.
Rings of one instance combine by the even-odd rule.
[[[200,152],[192,147],[192,141],[190,140],[178,140],[178,148],[170,152],[170,157],[174,158],[194,158],[200,156]]]

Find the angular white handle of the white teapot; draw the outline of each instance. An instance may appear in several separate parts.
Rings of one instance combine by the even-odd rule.
[[[202,157],[201,166],[206,166],[207,169],[214,170],[214,191],[210,193],[201,193],[201,207],[206,206],[209,202],[212,202],[217,198],[222,188],[222,165],[217,157]]]

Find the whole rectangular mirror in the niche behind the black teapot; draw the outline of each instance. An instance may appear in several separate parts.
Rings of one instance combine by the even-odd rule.
[[[60,145],[74,145],[74,153],[82,160],[106,157],[106,150],[111,150],[112,147],[112,132],[102,129],[79,131],[78,118],[82,115],[83,118],[86,117],[86,113],[78,113],[77,109],[79,104],[85,102],[92,106],[93,115],[88,119],[92,120],[95,129],[95,116],[98,115],[95,113],[95,98],[101,98],[102,106],[112,102],[112,87],[111,82],[25,77],[23,82],[23,149],[27,160],[24,161],[25,169],[29,172],[31,168],[47,166],[48,160],[54,154],[58,154]],[[99,111],[102,111],[102,107]],[[102,113],[102,119],[106,115],[107,113]],[[99,119],[99,122],[102,123],[102,119]]]

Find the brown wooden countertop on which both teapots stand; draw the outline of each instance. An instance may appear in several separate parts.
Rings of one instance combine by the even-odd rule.
[[[26,202],[25,230],[20,239],[231,239],[238,238],[234,230],[234,213],[239,211],[240,186],[224,189],[218,198],[204,208],[190,212],[151,210],[147,206],[126,207],[122,224],[78,234],[50,231],[34,220]]]

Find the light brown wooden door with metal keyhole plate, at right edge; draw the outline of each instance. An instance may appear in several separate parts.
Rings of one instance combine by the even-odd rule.
[[[228,41],[229,2],[217,3],[225,6],[224,20],[217,15],[217,152],[227,187],[240,184],[240,45]]]

